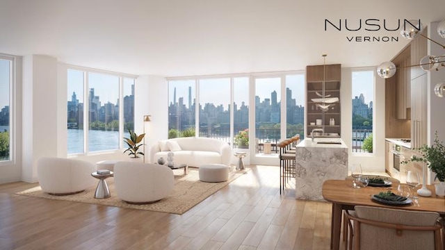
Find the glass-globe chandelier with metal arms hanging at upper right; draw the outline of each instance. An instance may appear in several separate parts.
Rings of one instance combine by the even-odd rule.
[[[426,35],[422,34],[423,31],[423,25],[421,24],[420,20],[410,20],[405,22],[405,25],[403,25],[401,29],[401,36],[405,38],[406,40],[414,40],[415,38],[421,36],[423,38],[426,38],[430,40],[431,42],[434,42],[435,44],[442,47],[442,49],[445,49],[445,44],[440,44],[439,42],[436,42],[435,40],[432,40],[431,38],[428,38]],[[442,20],[442,22],[439,23],[437,26],[437,33],[442,37],[445,38],[445,19]],[[407,65],[405,67],[416,67],[419,66],[423,71],[430,72],[430,71],[438,71],[441,67],[445,67],[445,55],[444,56],[424,56],[421,58],[419,64],[417,65]],[[381,63],[377,67],[377,74],[381,78],[390,78],[391,76],[394,76],[396,74],[397,67],[392,62],[385,62]],[[435,86],[435,94],[437,97],[444,97],[445,92],[445,83],[437,83]]]

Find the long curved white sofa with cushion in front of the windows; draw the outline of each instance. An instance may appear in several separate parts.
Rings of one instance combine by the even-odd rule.
[[[174,147],[171,147],[172,142]],[[175,153],[175,163],[185,163],[189,167],[200,167],[200,165],[213,163],[229,165],[230,158],[232,157],[232,149],[230,149],[227,142],[222,140],[212,138],[174,138],[154,144],[150,149],[150,162],[157,163],[161,157],[166,161],[167,154],[170,151]]]

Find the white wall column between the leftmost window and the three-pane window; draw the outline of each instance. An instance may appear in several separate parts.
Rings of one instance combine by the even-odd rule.
[[[57,67],[56,58],[49,56],[23,59],[23,181],[38,181],[36,162],[40,157],[57,156]]]

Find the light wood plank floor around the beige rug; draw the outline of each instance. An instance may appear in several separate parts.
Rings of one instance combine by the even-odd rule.
[[[279,167],[251,167],[184,215],[24,197],[14,193],[35,184],[3,184],[0,249],[330,249],[330,203],[280,196]]]

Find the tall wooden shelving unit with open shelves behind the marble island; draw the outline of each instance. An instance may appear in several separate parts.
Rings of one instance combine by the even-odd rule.
[[[340,137],[341,133],[341,106],[340,101],[332,103],[328,110],[322,110],[312,101],[312,99],[320,99],[318,94],[323,94],[323,82],[325,88],[325,95],[340,98],[341,87],[341,65],[312,65],[306,67],[306,81],[307,81],[307,105],[306,105],[306,131],[310,136],[312,129],[323,128],[323,131],[328,134],[337,133]],[[318,93],[318,94],[317,94]],[[316,124],[316,120],[321,119],[322,125]],[[330,120],[334,119],[334,125],[330,124]]]

